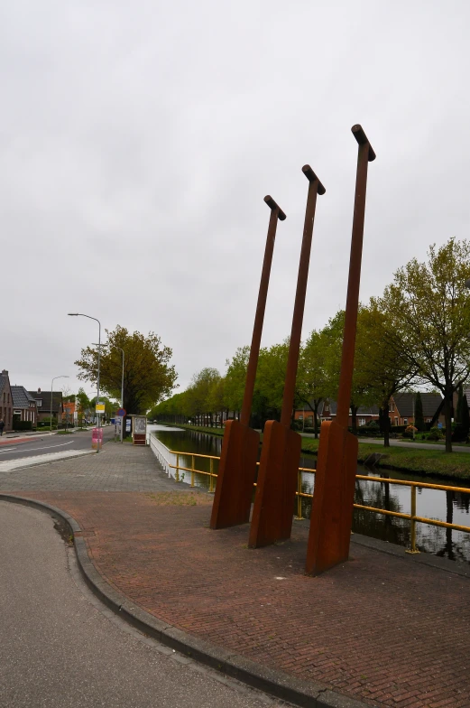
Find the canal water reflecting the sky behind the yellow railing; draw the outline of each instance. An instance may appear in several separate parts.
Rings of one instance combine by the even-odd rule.
[[[183,452],[180,455],[180,466],[191,467],[191,452],[203,455],[220,456],[222,438],[207,433],[168,428],[162,425],[150,425],[149,431],[169,450]],[[316,457],[302,455],[300,467],[313,468],[316,466]],[[218,460],[213,461],[214,472],[218,470]],[[209,470],[209,460],[195,458],[195,467],[199,470]],[[171,470],[174,475],[175,470]],[[446,484],[447,486],[465,487],[470,484],[458,481],[422,478],[412,474],[401,474],[395,470],[367,470],[358,465],[357,473],[370,477],[390,477],[394,480],[425,481],[430,484]],[[190,472],[180,472],[180,477],[189,481]],[[198,487],[208,488],[209,477],[195,474],[195,484]],[[315,485],[315,475],[311,472],[302,472],[302,491],[312,494]],[[355,503],[364,506],[384,508],[389,511],[398,511],[410,514],[411,497],[410,488],[398,484],[388,484],[367,480],[356,480]],[[470,493],[444,491],[438,489],[417,489],[417,515],[458,524],[470,526]],[[302,498],[302,517],[309,518],[311,501]],[[297,513],[297,503],[295,507]],[[392,544],[410,545],[410,521],[404,518],[389,517],[376,514],[372,511],[355,509],[353,530],[364,536],[373,536]],[[435,554],[450,558],[453,561],[470,563],[470,534],[463,531],[454,531],[441,526],[417,524],[417,546],[421,552]]]

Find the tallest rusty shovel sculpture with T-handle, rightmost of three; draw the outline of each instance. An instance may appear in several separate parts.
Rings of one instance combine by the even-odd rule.
[[[336,420],[323,423],[318,446],[317,473],[310,517],[307,573],[318,575],[349,555],[357,438],[347,430],[355,359],[355,330],[363,255],[365,189],[367,165],[375,153],[361,126],[351,128],[359,144],[355,182],[355,213],[349,280],[347,284],[345,334],[337,396]]]

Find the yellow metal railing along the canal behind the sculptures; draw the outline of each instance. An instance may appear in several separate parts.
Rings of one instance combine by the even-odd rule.
[[[209,489],[208,491],[214,493],[214,478],[217,478],[217,473],[214,472],[214,460],[220,460],[217,455],[201,455],[198,452],[176,452],[174,450],[169,450],[173,455],[176,455],[176,465],[169,463],[169,467],[176,470],[175,480],[177,482],[180,480],[180,470],[188,471],[191,473],[191,483],[190,486],[195,486],[195,474],[205,474],[209,478]],[[190,467],[180,466],[180,455],[191,458]],[[195,458],[204,458],[209,460],[209,471],[197,470],[195,467]],[[256,464],[260,464],[257,462]],[[309,472],[315,474],[316,470],[310,469],[309,467],[300,467],[297,476],[297,516],[296,518],[301,519],[302,517],[302,498],[313,498],[313,494],[302,491],[302,472]],[[377,507],[367,507],[364,504],[355,504],[355,508],[363,509],[364,511],[373,511],[375,514],[382,514],[388,517],[398,517],[408,519],[411,523],[410,527],[410,549],[406,553],[419,554],[419,550],[416,547],[416,525],[417,524],[429,524],[431,526],[444,526],[445,528],[452,528],[455,531],[465,531],[470,533],[470,526],[460,526],[459,524],[450,524],[447,521],[438,521],[436,518],[418,517],[416,514],[416,489],[437,489],[438,491],[456,491],[463,492],[465,494],[470,494],[470,489],[465,487],[451,487],[447,484],[429,484],[428,482],[412,482],[409,480],[393,480],[388,477],[368,477],[365,474],[356,474],[356,480],[364,480],[368,482],[380,482],[381,484],[400,484],[402,487],[410,487],[411,492],[411,513],[404,514],[401,511],[388,511],[387,509],[377,508]],[[254,487],[256,487],[256,482],[254,482]]]

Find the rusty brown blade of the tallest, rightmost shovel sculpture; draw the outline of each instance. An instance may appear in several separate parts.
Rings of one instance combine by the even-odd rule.
[[[324,573],[349,556],[358,442],[335,421],[323,423],[310,515],[306,572]]]

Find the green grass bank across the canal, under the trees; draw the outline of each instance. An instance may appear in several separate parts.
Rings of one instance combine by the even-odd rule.
[[[317,452],[318,440],[302,438],[303,452]],[[443,477],[453,480],[470,480],[470,454],[468,452],[451,452],[446,454],[442,449],[413,450],[406,447],[385,448],[367,442],[359,442],[358,462],[364,462],[372,452],[386,455],[378,461],[376,467],[385,469],[410,471],[414,474]]]

